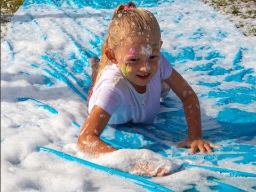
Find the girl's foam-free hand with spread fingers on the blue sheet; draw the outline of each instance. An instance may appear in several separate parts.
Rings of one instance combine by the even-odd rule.
[[[203,139],[186,139],[178,143],[178,147],[190,147],[190,153],[195,154],[196,150],[199,149],[201,153],[205,154],[212,153],[212,148],[219,148],[219,145],[215,145],[212,142],[205,141]]]

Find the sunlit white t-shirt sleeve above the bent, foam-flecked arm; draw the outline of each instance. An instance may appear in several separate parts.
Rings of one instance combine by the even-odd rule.
[[[101,89],[97,94],[94,105],[97,105],[113,115],[115,110],[121,106],[123,94],[116,89]]]

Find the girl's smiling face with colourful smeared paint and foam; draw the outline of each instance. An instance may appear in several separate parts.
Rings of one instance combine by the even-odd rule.
[[[161,46],[161,40],[151,35],[133,37],[116,48],[117,65],[135,90],[145,89],[156,74]]]

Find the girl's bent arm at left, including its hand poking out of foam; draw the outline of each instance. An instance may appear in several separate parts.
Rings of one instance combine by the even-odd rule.
[[[94,106],[92,108],[91,113],[85,119],[81,133],[78,137],[77,146],[80,150],[91,155],[109,153],[117,150],[99,138],[110,117],[111,116],[99,106]],[[127,161],[129,161],[129,159],[131,159],[131,157],[127,156]],[[134,163],[134,160],[130,160],[131,163],[134,163],[131,164],[132,171],[150,177],[163,176],[169,173],[170,169],[167,169],[164,165],[159,166],[158,164],[154,164],[154,162],[151,163],[146,159],[143,160],[145,160],[145,162],[140,162],[141,159],[138,158],[138,162],[140,162],[139,164],[137,162]]]

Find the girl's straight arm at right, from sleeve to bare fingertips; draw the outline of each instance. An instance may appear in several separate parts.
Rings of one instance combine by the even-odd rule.
[[[183,103],[183,109],[188,124],[188,138],[179,143],[179,147],[191,147],[190,153],[196,153],[197,148],[202,152],[212,152],[211,148],[217,148],[211,142],[202,138],[201,111],[199,101],[194,90],[183,77],[173,69],[169,78],[164,80]]]

